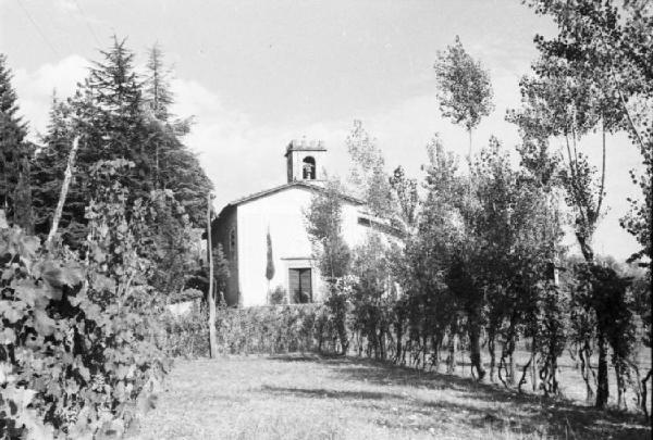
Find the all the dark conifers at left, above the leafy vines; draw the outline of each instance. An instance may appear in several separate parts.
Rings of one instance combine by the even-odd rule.
[[[152,190],[172,190],[194,226],[204,225],[206,193],[211,183],[197,158],[182,142],[190,118],[171,114],[173,96],[169,70],[158,47],[148,53],[144,74],[134,70],[134,53],[125,41],[113,39],[73,97],[56,95],[46,134],[40,142],[25,140],[27,124],[16,115],[11,74],[2,58],[3,176],[0,198],[14,224],[40,237],[47,236],[63,183],[73,139],[79,138],[72,185],[61,217],[61,240],[75,248],[86,236],[84,210],[88,204],[91,166],[98,161],[131,162],[119,180],[132,200]]]

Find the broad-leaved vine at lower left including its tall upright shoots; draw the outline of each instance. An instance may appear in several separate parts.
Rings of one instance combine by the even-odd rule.
[[[0,228],[0,432],[10,438],[121,436],[170,366],[144,256],[151,211],[137,200],[127,222],[116,183],[94,196],[84,260]]]

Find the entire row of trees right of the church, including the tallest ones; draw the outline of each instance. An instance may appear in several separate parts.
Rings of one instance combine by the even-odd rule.
[[[639,354],[651,349],[653,121],[638,109],[653,99],[646,49],[653,15],[641,2],[530,3],[553,16],[559,34],[535,38],[540,58],[520,81],[521,108],[506,114],[521,137],[519,164],[494,137],[473,152],[472,134],[492,112],[493,92],[488,72],[456,38],[434,70],[442,115],[468,133],[469,153],[460,161],[435,136],[421,181],[402,167],[389,176],[374,140],[355,124],[349,181],[402,238],[375,234],[349,249],[341,231],[341,184],[316,198],[308,232],[329,279],[325,305],[343,353],[352,338],[362,338],[358,347],[369,355],[422,367],[438,368],[445,352],[453,372],[463,345],[479,380],[489,376],[521,389],[530,372],[534,389],[557,394],[558,360],[567,350],[588,401],[606,406],[612,367],[618,405],[626,406],[631,390],[648,411],[651,370],[640,369]],[[600,257],[592,247],[606,209],[608,136],[619,130],[644,165],[641,175],[631,172],[643,197],[631,200],[621,219],[641,244],[629,264]],[[580,149],[596,131],[600,168]],[[563,244],[565,229],[579,256]],[[530,357],[518,372],[520,341]]]

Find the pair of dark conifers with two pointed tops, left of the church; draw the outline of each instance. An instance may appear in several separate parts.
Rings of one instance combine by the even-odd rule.
[[[169,189],[192,224],[204,224],[205,194],[211,184],[180,140],[187,122],[174,120],[169,110],[172,93],[160,50],[149,63],[157,73],[150,72],[145,81],[136,75],[134,54],[124,40],[114,37],[100,54],[67,102],[53,100],[33,171],[37,232],[47,235],[50,228],[75,136],[81,136],[79,151],[61,218],[63,242],[75,247],[86,236],[90,167],[98,161],[124,159],[133,164],[119,168],[115,176],[128,189],[127,205],[147,199],[153,189]]]

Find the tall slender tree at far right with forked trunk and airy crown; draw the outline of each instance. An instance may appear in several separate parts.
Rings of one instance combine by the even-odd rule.
[[[633,49],[631,43],[623,39],[629,34],[626,27],[634,22],[646,27],[645,20],[633,18],[644,9],[640,9],[633,16],[620,17],[613,1],[569,3],[542,0],[530,3],[538,13],[554,16],[559,34],[549,40],[541,36],[535,38],[541,53],[533,64],[535,75],[522,79],[523,109],[509,113],[508,118],[520,126],[526,138],[544,144],[552,138],[562,140],[566,166],[559,169],[559,181],[565,188],[567,203],[574,211],[576,237],[589,266],[582,273],[595,276],[601,271],[594,267],[596,263],[592,238],[604,208],[606,134],[626,128],[642,148],[644,158],[650,156],[645,153],[641,127],[638,127],[637,118],[627,102],[633,100],[644,105],[650,104],[650,84],[644,80],[650,74],[646,67],[648,55],[639,49],[636,50],[637,53],[630,51]],[[628,5],[625,10],[628,10]],[[625,23],[630,25],[624,27]],[[653,28],[650,24],[649,30]],[[641,29],[642,26],[638,28]],[[643,34],[639,36],[636,45],[641,43]],[[643,122],[645,126],[645,117]],[[581,138],[595,129],[602,133],[600,172],[590,164],[579,147]],[[645,192],[645,185],[642,188]],[[645,212],[645,209],[641,212]],[[583,294],[582,298],[587,298],[584,302],[588,310],[596,315],[599,380],[595,404],[603,407],[607,403],[609,390],[609,328],[602,324],[608,320],[607,310],[602,305],[602,292],[605,289],[601,287],[600,279],[588,282],[592,294]],[[588,343],[584,345],[589,347]]]

